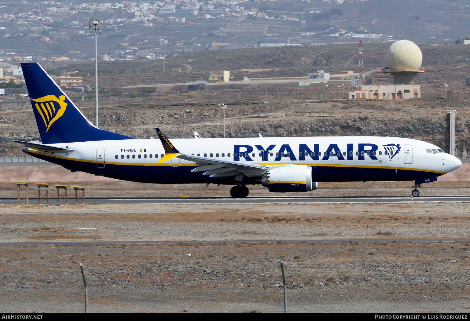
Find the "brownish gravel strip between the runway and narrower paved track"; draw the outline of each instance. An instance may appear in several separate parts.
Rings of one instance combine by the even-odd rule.
[[[466,238],[465,202],[0,206],[0,241]]]

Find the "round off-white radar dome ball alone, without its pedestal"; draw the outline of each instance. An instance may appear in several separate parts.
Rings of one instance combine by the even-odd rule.
[[[387,51],[387,66],[390,70],[418,70],[423,62],[421,49],[412,41],[394,42]]]

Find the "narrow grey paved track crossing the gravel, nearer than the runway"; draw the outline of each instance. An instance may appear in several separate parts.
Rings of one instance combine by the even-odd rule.
[[[470,238],[344,238],[305,240],[224,240],[224,241],[90,241],[90,242],[2,242],[0,245],[96,245],[96,244],[201,244],[201,243],[294,243],[294,242],[463,242]]]

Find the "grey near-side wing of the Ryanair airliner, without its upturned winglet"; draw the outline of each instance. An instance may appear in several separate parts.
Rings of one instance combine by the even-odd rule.
[[[194,161],[197,168],[194,168],[192,172],[204,171],[203,175],[208,175],[209,177],[235,176],[235,180],[237,180],[237,176],[240,178],[243,178],[243,175],[257,177],[263,176],[267,171],[266,166],[258,164],[240,163],[188,154],[180,154],[176,157],[182,160]]]

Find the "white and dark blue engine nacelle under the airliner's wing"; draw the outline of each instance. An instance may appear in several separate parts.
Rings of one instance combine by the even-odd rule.
[[[270,192],[314,191],[317,182],[312,182],[312,168],[306,165],[288,165],[270,169],[261,179]]]

